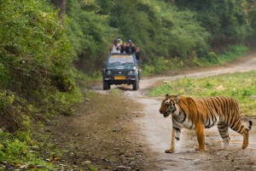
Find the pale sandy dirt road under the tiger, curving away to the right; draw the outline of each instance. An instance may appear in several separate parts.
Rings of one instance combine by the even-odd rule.
[[[183,129],[177,151],[174,154],[166,154],[164,151],[171,144],[172,119],[164,118],[159,113],[160,102],[164,96],[148,98],[144,94],[145,89],[152,87],[158,81],[172,81],[181,77],[208,77],[251,70],[256,70],[256,54],[249,54],[225,66],[172,71],[172,73],[166,73],[164,77],[143,78],[140,82],[140,90],[131,91],[128,88],[124,91],[124,95],[145,106],[143,111],[140,111],[144,116],[135,118],[133,122],[139,128],[137,130],[139,140],[148,145],[148,153],[152,153],[159,170],[256,170],[255,121],[253,121],[254,125],[250,131],[249,145],[246,150],[241,150],[242,136],[232,130],[230,130],[230,147],[227,150],[221,150],[222,139],[218,129],[214,127],[206,129],[207,151],[195,151],[197,140],[194,131]]]

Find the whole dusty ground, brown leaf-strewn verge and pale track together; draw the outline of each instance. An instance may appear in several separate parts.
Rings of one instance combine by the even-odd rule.
[[[220,150],[222,140],[218,130],[211,128],[206,133],[207,151],[197,152],[194,132],[183,129],[177,151],[166,154],[164,151],[171,143],[172,121],[159,113],[163,97],[150,98],[146,94],[146,90],[159,81],[250,71],[255,70],[255,66],[256,54],[250,54],[225,66],[169,71],[165,76],[144,77],[138,91],[131,91],[127,86],[112,86],[111,90],[103,91],[102,85],[96,86],[96,94],[106,96],[103,100],[94,97],[99,103],[95,111],[90,109],[94,99],[91,97],[76,116],[61,117],[55,126],[51,124],[46,129],[51,134],[50,140],[62,149],[62,161],[56,163],[65,163],[67,170],[92,170],[90,163],[98,170],[256,170],[255,121],[249,146],[244,151],[241,150],[241,135],[232,131],[229,149]],[[122,111],[119,111],[119,105],[104,105],[116,98],[114,95],[109,97],[111,94],[121,94],[119,105]],[[101,121],[99,118],[104,112],[97,113],[99,108],[106,109],[105,115],[117,113],[117,116]]]

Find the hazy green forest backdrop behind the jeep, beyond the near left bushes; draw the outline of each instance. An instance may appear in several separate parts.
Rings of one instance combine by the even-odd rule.
[[[84,3],[67,0],[67,3],[67,15],[76,23],[71,25],[76,26],[76,31],[69,31],[75,40],[81,40],[77,42],[80,47],[78,66],[83,71],[102,68],[113,38],[121,38],[123,42],[131,39],[141,47],[143,69],[148,69],[143,73],[205,66],[205,63],[218,65],[216,58],[229,46],[253,46],[253,25],[250,25],[253,20],[247,20],[253,11],[247,13],[247,9],[252,9],[251,2],[247,1],[106,0]],[[80,14],[83,18],[78,17]],[[85,22],[89,16],[101,20]],[[82,43],[85,40],[90,40],[88,45]],[[95,44],[99,40],[100,43]],[[216,57],[212,59],[212,56]],[[164,66],[159,67],[155,59],[163,60],[160,63]]]

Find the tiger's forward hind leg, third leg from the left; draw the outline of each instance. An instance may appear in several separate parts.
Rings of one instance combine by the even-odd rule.
[[[227,148],[230,144],[229,126],[224,122],[217,124],[218,132],[223,139],[223,148]]]

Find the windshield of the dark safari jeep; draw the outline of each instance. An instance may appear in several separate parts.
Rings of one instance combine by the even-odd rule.
[[[132,55],[127,54],[111,54],[108,58],[108,64],[134,64]]]

